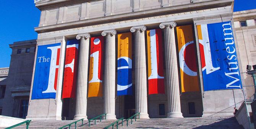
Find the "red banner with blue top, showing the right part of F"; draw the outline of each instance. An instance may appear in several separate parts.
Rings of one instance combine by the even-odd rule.
[[[67,41],[67,44],[66,44],[66,57],[65,57],[62,99],[75,98],[75,95],[76,95],[78,42],[79,40],[72,39]]]

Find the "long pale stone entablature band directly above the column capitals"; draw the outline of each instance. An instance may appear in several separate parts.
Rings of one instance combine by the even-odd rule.
[[[50,32],[39,33],[37,41],[40,44],[41,42],[44,42],[41,39],[51,40],[50,38],[56,38],[56,37],[61,38],[61,36],[78,35],[79,33],[84,33],[84,32],[87,32],[87,33],[94,32],[94,33],[97,33],[98,35],[100,35],[103,30],[108,30],[109,28],[132,27],[134,25],[139,25],[141,22],[143,22],[145,25],[156,24],[156,23],[159,23],[159,21],[175,20],[178,22],[178,20],[185,20],[188,17],[191,19],[194,19],[194,18],[198,18],[198,16],[208,16],[208,17],[203,17],[203,18],[200,17],[196,20],[221,19],[221,17],[222,18],[230,17],[231,12],[232,12],[231,6],[225,6],[225,7],[219,7],[219,8],[202,9],[202,10],[197,10],[197,11],[187,11],[187,12],[183,12],[183,13],[173,13],[173,14],[166,14],[166,15],[160,15],[160,16],[138,18],[138,19],[132,19],[132,20],[121,20],[119,22],[109,22],[106,24],[88,25],[88,26],[84,26],[84,27],[63,29],[63,30],[58,30],[58,31],[56,31],[56,28],[54,28],[54,26],[49,26],[49,27],[47,27],[47,29],[54,28],[55,30],[50,31]],[[227,15],[227,13],[228,13],[228,15]],[[210,14],[212,14],[212,16]],[[216,15],[216,14],[218,14],[218,15]],[[80,21],[80,22],[82,22],[82,21]],[[73,26],[73,24],[71,24],[71,25]],[[159,26],[156,26],[156,27],[159,27]],[[35,30],[41,32],[41,30],[39,30],[39,28],[35,28]],[[127,31],[129,31],[129,29]]]

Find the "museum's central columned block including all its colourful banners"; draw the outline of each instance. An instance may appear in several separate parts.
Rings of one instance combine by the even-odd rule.
[[[244,100],[233,0],[35,4],[29,120],[233,115]]]

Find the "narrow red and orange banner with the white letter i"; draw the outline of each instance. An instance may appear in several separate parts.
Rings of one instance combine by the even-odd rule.
[[[91,38],[88,97],[103,97],[103,36]]]

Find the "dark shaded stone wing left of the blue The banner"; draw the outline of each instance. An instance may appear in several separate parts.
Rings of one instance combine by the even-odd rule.
[[[36,40],[20,41],[10,44],[12,49],[8,77],[1,80],[6,85],[5,96],[0,99],[2,115],[26,118],[28,112],[29,91],[34,66]],[[4,69],[0,69],[0,72]],[[6,74],[6,76],[7,76]],[[0,78],[1,74],[0,74]]]

